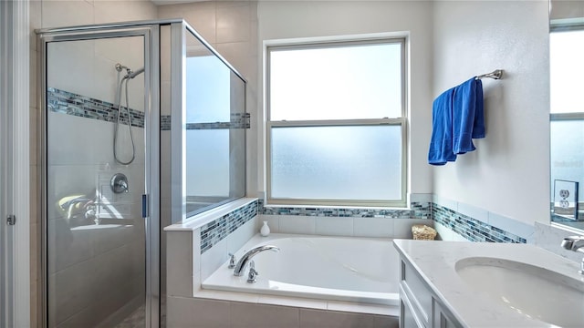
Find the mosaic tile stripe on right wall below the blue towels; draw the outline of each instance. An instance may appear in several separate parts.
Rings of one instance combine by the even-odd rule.
[[[432,204],[433,220],[455,231],[469,241],[526,243],[527,241],[508,231],[475,220],[457,211]]]

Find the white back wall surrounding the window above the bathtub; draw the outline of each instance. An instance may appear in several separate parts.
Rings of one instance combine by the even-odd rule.
[[[431,169],[426,164],[432,124],[432,8],[427,1],[260,1],[257,4],[259,53],[266,40],[349,36],[387,32],[409,34],[410,163],[412,193],[432,193]],[[262,62],[258,64],[262,108]],[[262,112],[260,112],[262,113]],[[252,117],[252,119],[256,119]],[[265,116],[256,124],[265,126]],[[257,183],[264,191],[264,132],[257,147]]]

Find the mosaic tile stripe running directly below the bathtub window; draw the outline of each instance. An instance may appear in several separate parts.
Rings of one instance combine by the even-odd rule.
[[[259,200],[259,213],[266,215],[298,215],[319,217],[348,218],[393,218],[393,219],[432,219],[430,202],[412,202],[411,210],[373,210],[373,209],[329,209],[298,207],[264,207],[264,200]]]

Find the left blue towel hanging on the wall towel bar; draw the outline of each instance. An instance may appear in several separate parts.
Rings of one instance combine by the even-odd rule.
[[[456,160],[453,151],[453,99],[454,87],[443,92],[433,102],[432,138],[428,163],[444,165]]]

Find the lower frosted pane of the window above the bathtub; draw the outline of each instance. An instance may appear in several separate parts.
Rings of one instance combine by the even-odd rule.
[[[272,128],[275,199],[400,200],[401,127]]]

